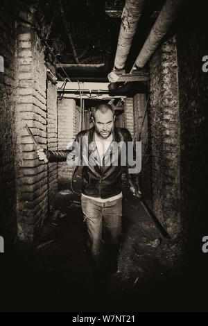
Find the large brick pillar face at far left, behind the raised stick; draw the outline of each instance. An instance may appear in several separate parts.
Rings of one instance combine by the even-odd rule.
[[[48,210],[48,164],[40,162],[25,128],[47,148],[46,67],[36,33],[19,27],[17,88],[17,226],[21,240],[31,240]]]

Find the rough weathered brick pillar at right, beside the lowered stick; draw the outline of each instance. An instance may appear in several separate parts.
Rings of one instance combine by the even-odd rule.
[[[180,233],[180,122],[175,37],[150,62],[153,210],[168,232]]]

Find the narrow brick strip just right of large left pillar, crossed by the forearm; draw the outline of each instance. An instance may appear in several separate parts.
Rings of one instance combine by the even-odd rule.
[[[57,87],[47,80],[47,143],[48,149],[58,149],[57,130]],[[55,193],[58,191],[58,163],[49,163],[49,205],[53,205]]]

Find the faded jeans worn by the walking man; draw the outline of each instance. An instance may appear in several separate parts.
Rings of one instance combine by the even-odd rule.
[[[122,198],[99,203],[81,198],[87,225],[87,246],[98,268],[116,261],[121,237]]]

